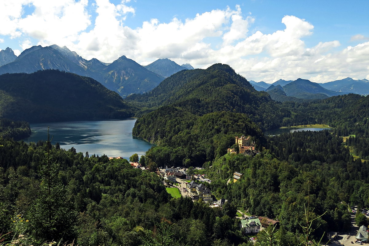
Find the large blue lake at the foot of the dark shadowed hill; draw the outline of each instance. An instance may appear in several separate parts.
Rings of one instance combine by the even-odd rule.
[[[107,121],[73,121],[30,124],[32,135],[24,139],[26,142],[38,142],[47,139],[49,128],[52,144],[59,142],[61,148],[74,147],[77,152],[85,155],[121,156],[129,159],[134,153],[138,156],[152,146],[142,139],[132,137],[132,128],[136,119],[107,120]]]

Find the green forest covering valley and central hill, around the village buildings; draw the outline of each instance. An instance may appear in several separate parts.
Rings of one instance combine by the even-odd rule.
[[[349,207],[369,208],[369,96],[279,103],[215,64],[114,100],[110,115],[135,113],[133,135],[156,143],[140,159],[149,170],[61,149],[51,136],[18,141],[30,134],[28,123],[0,121],[1,246],[252,246],[237,210],[279,221],[258,233],[255,245],[321,245],[328,232],[351,229]],[[332,128],[264,135],[316,123]],[[241,135],[251,136],[258,154],[227,153]],[[228,202],[220,209],[172,198],[151,171],[169,164],[204,167],[212,180],[206,186]],[[233,182],[236,171],[243,176]]]

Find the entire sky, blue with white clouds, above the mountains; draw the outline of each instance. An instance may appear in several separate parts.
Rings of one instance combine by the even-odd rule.
[[[369,0],[0,0],[0,50],[230,65],[247,80],[369,80]]]

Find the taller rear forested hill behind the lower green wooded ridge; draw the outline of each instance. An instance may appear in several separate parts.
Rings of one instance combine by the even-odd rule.
[[[199,116],[217,111],[243,113],[261,129],[279,127],[283,117],[290,116],[266,92],[256,91],[224,64],[178,72],[149,93],[127,99],[145,103],[148,108],[171,105]]]

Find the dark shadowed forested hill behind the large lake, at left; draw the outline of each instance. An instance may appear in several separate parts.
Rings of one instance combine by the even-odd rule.
[[[0,117],[28,122],[122,119],[134,111],[89,77],[58,70],[0,76]]]

